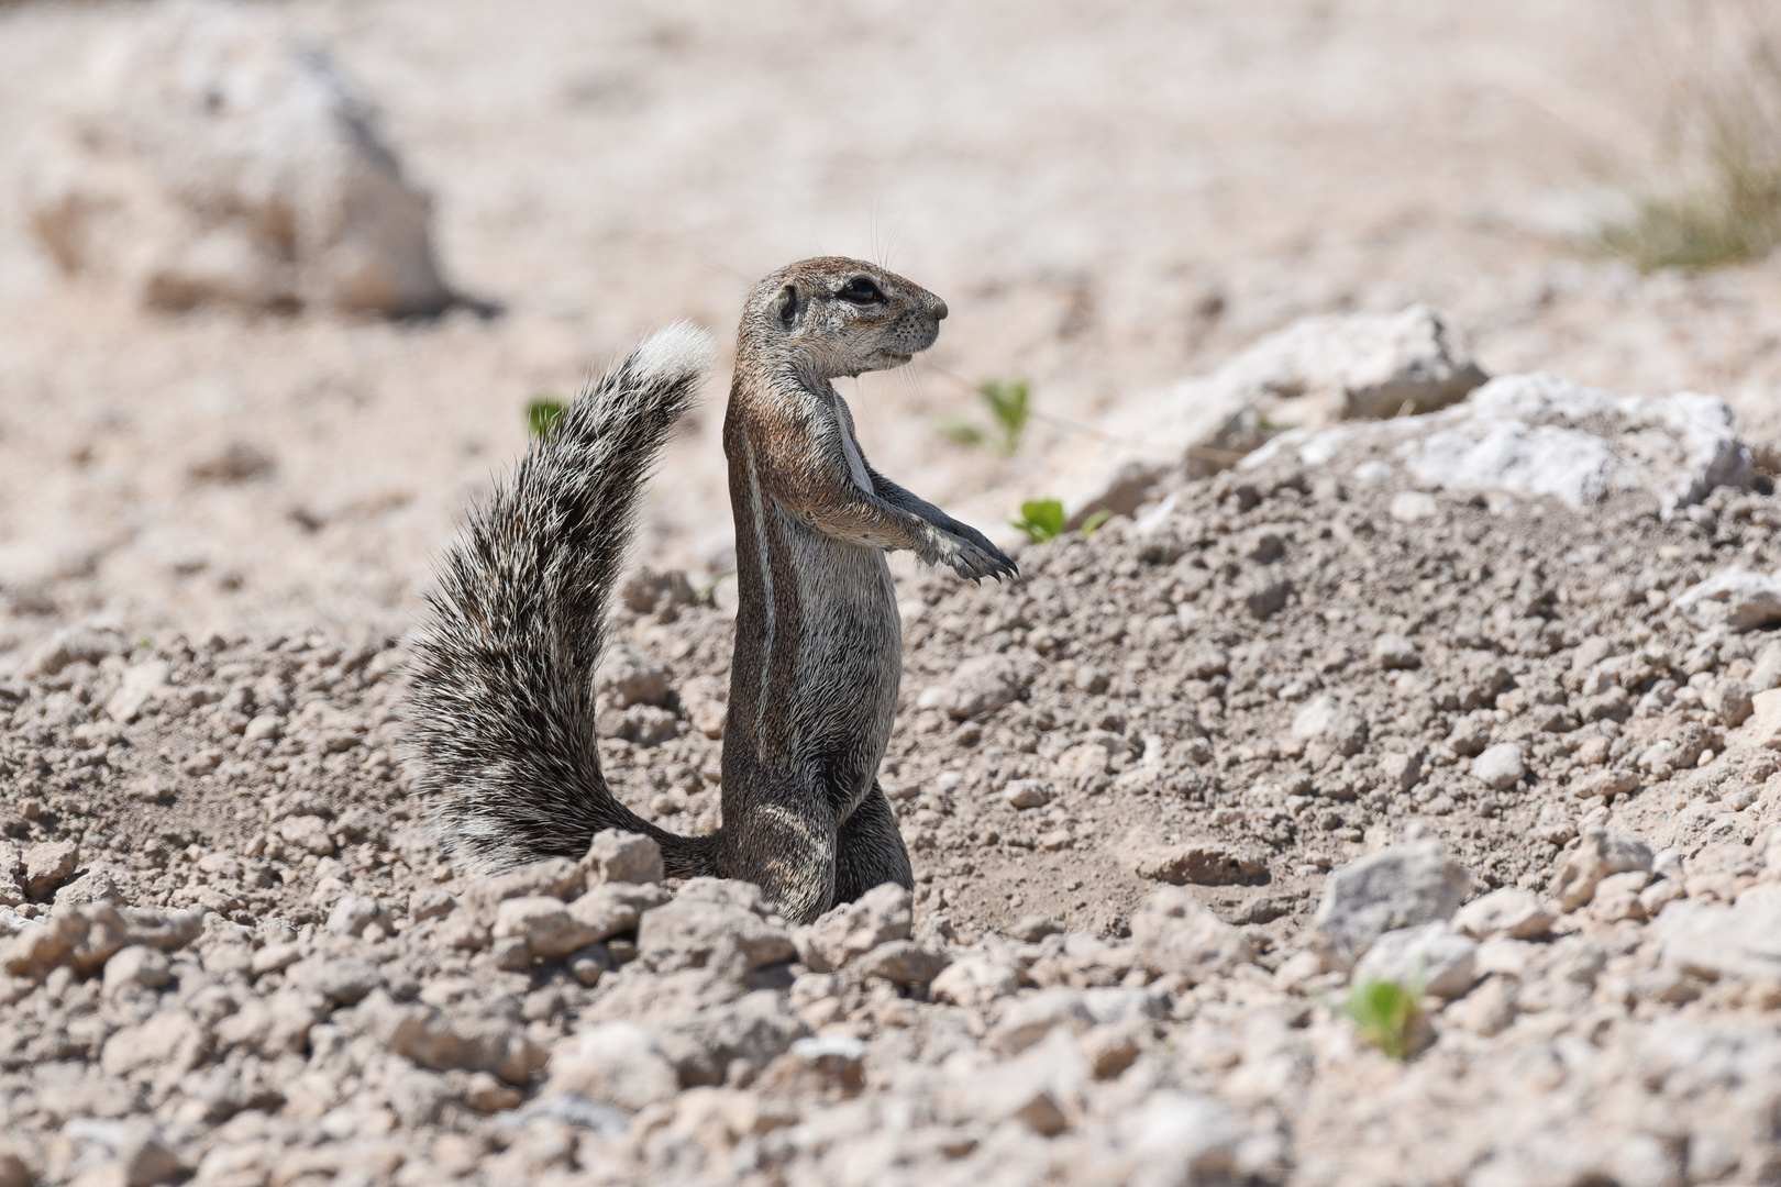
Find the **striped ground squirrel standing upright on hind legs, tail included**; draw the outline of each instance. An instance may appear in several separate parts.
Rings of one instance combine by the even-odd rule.
[[[933,345],[946,303],[871,263],[803,260],[743,308],[723,424],[739,609],[723,733],[723,824],[679,836],[600,772],[593,673],[643,479],[709,367],[686,324],[645,340],[534,441],[447,555],[417,648],[417,792],[484,868],[581,856],[645,833],[670,874],[759,884],[809,922],[880,883],[910,886],[878,785],[903,671],[885,550],[1012,577],[974,529],[873,470],[839,375]]]

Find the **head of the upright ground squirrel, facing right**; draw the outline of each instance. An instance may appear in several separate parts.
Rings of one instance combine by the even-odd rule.
[[[743,306],[743,345],[791,356],[812,379],[901,367],[940,335],[946,303],[896,272],[842,256],[782,267]]]

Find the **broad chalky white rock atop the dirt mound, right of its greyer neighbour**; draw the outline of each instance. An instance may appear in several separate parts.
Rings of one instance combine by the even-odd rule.
[[[1339,473],[1368,466],[1375,480],[1398,475],[1425,488],[1553,497],[1580,509],[1644,489],[1665,514],[1754,475],[1719,397],[1617,395],[1546,374],[1501,375],[1432,416],[1286,432],[1243,464],[1295,454]]]

